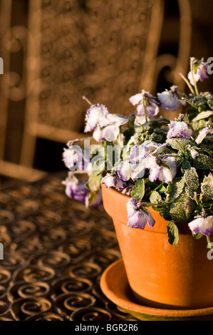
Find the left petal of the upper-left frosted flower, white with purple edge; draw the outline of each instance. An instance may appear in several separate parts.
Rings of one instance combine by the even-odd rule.
[[[92,105],[85,115],[85,133],[92,131],[99,123],[105,122],[108,113],[104,105]]]

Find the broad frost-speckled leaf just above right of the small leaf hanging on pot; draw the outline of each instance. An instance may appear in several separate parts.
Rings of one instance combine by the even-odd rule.
[[[185,222],[189,220],[189,217],[191,217],[194,210],[194,204],[195,202],[188,197],[184,189],[181,195],[179,195],[179,197],[177,197],[171,204],[170,215],[172,220],[176,222]]]

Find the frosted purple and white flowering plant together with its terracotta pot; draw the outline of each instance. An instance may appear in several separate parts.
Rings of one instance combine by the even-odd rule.
[[[213,304],[213,96],[199,93],[209,63],[190,58],[189,94],[177,86],[130,97],[128,117],[93,105],[90,138],[70,141],[63,161],[68,197],[113,218],[130,287],[140,304],[198,309]],[[180,111],[158,116],[160,108]],[[86,175],[78,178],[79,173]],[[102,189],[102,191],[101,191]]]

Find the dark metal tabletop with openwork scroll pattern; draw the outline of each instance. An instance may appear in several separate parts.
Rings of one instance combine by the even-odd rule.
[[[0,191],[0,321],[131,319],[99,285],[120,259],[112,221],[68,199],[61,180]]]

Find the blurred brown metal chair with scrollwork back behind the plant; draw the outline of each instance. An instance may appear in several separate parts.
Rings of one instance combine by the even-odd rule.
[[[0,0],[0,175],[41,177],[38,140],[66,144],[82,137],[88,108],[82,96],[128,114],[130,96],[142,88],[155,94],[165,67],[167,82],[182,88],[178,73],[187,71],[191,43],[189,0],[177,0],[170,20],[165,0],[18,2]],[[167,52],[160,50],[165,45]]]

